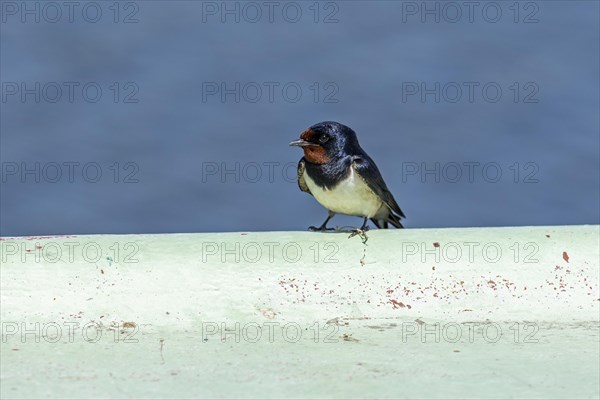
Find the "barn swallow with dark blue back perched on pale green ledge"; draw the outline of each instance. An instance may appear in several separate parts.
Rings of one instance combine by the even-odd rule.
[[[311,231],[333,230],[327,223],[335,214],[363,217],[382,229],[388,224],[403,228],[406,218],[381,177],[375,162],[358,144],[356,133],[338,122],[315,124],[290,143],[304,150],[298,163],[298,186],[309,193],[329,214],[320,227]]]

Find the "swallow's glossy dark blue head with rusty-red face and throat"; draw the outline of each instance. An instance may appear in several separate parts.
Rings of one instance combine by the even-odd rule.
[[[290,143],[304,150],[304,158],[313,164],[326,164],[332,159],[353,154],[360,148],[356,133],[338,122],[319,122],[302,132],[299,140]]]

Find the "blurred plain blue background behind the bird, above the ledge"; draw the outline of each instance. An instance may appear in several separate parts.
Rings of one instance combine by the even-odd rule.
[[[488,3],[3,1],[0,233],[304,230],[288,143],[322,120],[409,228],[597,224],[599,3]]]

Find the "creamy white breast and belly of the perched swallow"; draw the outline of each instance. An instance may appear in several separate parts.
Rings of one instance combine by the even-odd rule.
[[[306,171],[304,180],[315,199],[334,213],[371,218],[381,208],[381,199],[354,172],[352,167],[350,167],[348,178],[330,190],[318,186]]]

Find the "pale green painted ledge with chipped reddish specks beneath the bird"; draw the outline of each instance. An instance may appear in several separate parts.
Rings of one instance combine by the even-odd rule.
[[[2,238],[1,396],[598,398],[599,236]]]

